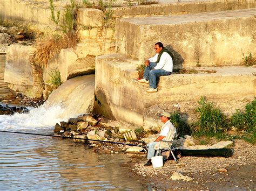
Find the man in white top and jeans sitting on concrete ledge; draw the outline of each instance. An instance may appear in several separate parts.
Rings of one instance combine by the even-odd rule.
[[[172,53],[160,42],[154,45],[156,55],[145,61],[143,79],[138,80],[142,83],[149,83],[149,93],[157,92],[157,77],[172,74],[173,62]]]

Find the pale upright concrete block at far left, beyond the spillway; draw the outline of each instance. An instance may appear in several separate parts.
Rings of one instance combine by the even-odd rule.
[[[9,88],[25,95],[31,94],[33,86],[30,53],[35,48],[31,46],[11,45],[7,49],[4,70],[4,82]]]

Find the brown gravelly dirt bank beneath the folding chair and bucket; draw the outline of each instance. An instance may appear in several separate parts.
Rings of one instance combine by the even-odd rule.
[[[235,140],[234,154],[223,157],[181,157],[179,164],[173,160],[165,162],[163,167],[145,167],[146,158],[131,160],[133,178],[137,178],[152,188],[161,190],[173,189],[223,189],[223,190],[256,190],[256,146],[243,140]],[[218,170],[225,168],[227,172]],[[193,180],[170,180],[174,172],[190,176]]]

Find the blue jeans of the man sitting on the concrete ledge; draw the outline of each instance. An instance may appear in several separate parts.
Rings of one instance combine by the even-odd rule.
[[[167,72],[164,69],[153,69],[157,66],[156,62],[150,62],[149,66],[145,67],[143,78],[150,81],[150,88],[157,88],[157,77],[171,75],[171,72]]]

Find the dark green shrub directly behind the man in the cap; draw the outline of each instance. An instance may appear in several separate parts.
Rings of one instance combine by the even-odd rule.
[[[191,128],[187,121],[182,117],[180,111],[174,111],[171,113],[170,121],[177,129],[177,135],[184,137],[185,135],[191,135]]]

